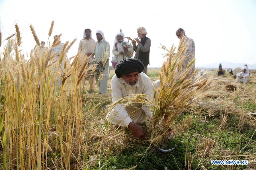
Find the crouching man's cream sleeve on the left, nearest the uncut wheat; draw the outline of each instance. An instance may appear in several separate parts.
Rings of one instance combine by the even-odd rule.
[[[117,80],[116,77],[113,77],[111,80],[111,89],[112,89],[112,101],[117,102],[119,99],[122,98],[122,89],[120,86],[120,82]],[[114,108],[115,112],[118,112],[116,114],[117,118],[120,119],[122,124],[125,127],[128,127],[128,125],[132,122],[132,119],[128,115],[125,105],[123,103],[117,104]]]

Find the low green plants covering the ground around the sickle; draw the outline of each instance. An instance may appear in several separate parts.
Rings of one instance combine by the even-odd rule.
[[[180,116],[177,121],[181,123],[183,118],[188,117],[190,115],[183,115]],[[122,152],[115,152],[116,154],[112,154],[112,156],[108,156],[107,159],[105,158],[104,154],[101,154],[101,159],[97,161],[95,164],[95,169],[99,169],[101,165],[105,166],[103,169],[124,169],[130,168],[134,165],[137,165],[139,162],[140,164],[136,169],[148,170],[148,169],[184,169],[185,166],[185,153],[186,153],[186,146],[188,142],[187,152],[191,152],[192,155],[196,155],[196,150],[194,146],[199,142],[199,136],[197,134],[203,135],[208,137],[210,134],[210,139],[217,140],[219,137],[222,137],[220,142],[221,150],[230,150],[237,152],[239,148],[239,141],[241,141],[240,147],[243,148],[251,135],[254,132],[254,129],[248,129],[243,133],[238,133],[239,129],[236,127],[238,124],[237,118],[235,116],[229,117],[229,122],[227,122],[226,126],[223,130],[219,130],[218,127],[220,125],[220,120],[217,118],[207,118],[207,122],[201,121],[195,116],[192,118],[191,126],[185,131],[184,133],[179,134],[175,138],[171,138],[165,144],[166,148],[173,148],[175,150],[169,153],[162,153],[153,148],[152,153],[149,153],[149,150],[145,157],[142,159],[142,153],[145,152],[147,146],[140,146],[139,144],[134,148],[131,149],[124,149]],[[197,136],[196,136],[197,135]],[[256,144],[251,144],[247,146],[247,150],[252,150],[251,154],[253,154],[253,148],[256,148]],[[220,150],[220,149],[219,149]],[[219,155],[222,153],[219,151]],[[238,154],[238,153],[237,153]],[[175,160],[174,160],[175,158]],[[216,160],[214,157],[210,157],[210,160]],[[245,160],[241,158],[241,160]],[[177,164],[176,164],[176,162]],[[187,164],[187,162],[186,162]],[[197,165],[200,164],[199,159],[196,157],[193,160],[192,169],[195,169]],[[205,167],[208,169],[225,169],[220,165],[211,165],[210,163],[204,164]],[[201,165],[198,167],[199,169],[202,168]],[[237,169],[244,169],[244,165],[239,165],[236,167]],[[90,169],[93,169],[91,166]]]

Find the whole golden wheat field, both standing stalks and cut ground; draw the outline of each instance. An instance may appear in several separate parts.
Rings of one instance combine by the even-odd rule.
[[[54,22],[49,26],[51,37]],[[247,84],[236,83],[228,73],[217,77],[216,72],[191,72],[195,60],[183,67],[187,45],[182,39],[176,53],[176,47],[162,46],[165,62],[159,70],[148,71],[152,82],[161,82],[153,100],[136,94],[112,103],[114,70],[106,94],[96,94],[98,88],[88,93],[85,77],[95,74],[97,64],[89,64],[80,53],[66,57],[76,39],[66,41],[57,55],[52,51],[61,34],[43,48],[30,25],[36,46],[22,54],[26,37],[17,24],[15,29],[10,37],[0,34],[1,169],[256,168],[255,71]],[[151,109],[152,119],[142,124],[146,140],[105,121],[120,103]],[[175,150],[163,153],[155,146]],[[248,164],[212,165],[211,160]]]

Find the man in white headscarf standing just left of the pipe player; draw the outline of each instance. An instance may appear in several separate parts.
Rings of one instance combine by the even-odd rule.
[[[116,34],[112,53],[117,57],[117,63],[126,57],[131,57],[128,55],[128,52],[132,51],[133,49],[124,42],[124,34],[121,32]]]

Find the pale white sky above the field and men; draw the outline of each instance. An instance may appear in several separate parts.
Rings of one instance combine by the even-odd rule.
[[[151,39],[148,67],[161,67],[165,60],[159,43],[168,48],[178,45],[178,28],[194,40],[196,66],[222,61],[256,62],[255,1],[0,1],[2,40],[15,33],[14,25],[18,23],[24,54],[35,45],[29,24],[39,40],[47,42],[52,20],[51,42],[60,33],[64,43],[77,38],[69,57],[77,53],[85,28],[92,30],[95,41],[96,31],[103,31],[112,50],[120,28],[126,37],[135,38],[136,29],[144,26]]]

